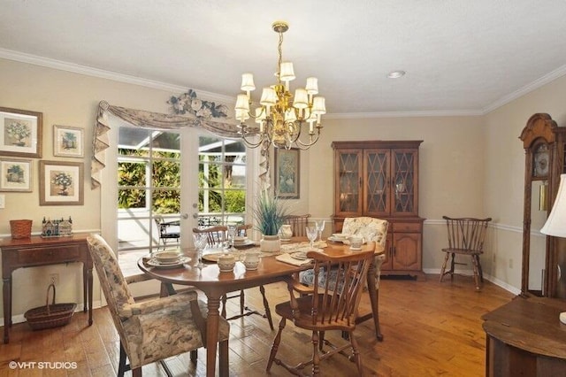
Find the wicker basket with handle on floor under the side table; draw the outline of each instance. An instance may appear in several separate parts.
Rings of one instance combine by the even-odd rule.
[[[50,304],[51,287],[53,288],[53,299]],[[47,288],[45,306],[28,310],[24,317],[26,317],[29,327],[34,330],[65,326],[73,318],[76,307],[77,304],[75,303],[55,304],[55,285],[50,284]]]

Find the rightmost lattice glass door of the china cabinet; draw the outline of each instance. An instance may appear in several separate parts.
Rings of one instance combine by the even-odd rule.
[[[415,178],[417,166],[416,150],[392,150],[393,181],[392,214],[417,214],[417,180]]]

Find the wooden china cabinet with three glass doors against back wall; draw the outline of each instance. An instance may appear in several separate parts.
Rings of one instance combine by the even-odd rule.
[[[384,274],[422,273],[418,148],[422,141],[333,142],[334,232],[345,218],[389,221]]]

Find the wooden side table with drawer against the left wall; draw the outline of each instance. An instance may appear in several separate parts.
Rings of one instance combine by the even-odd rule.
[[[32,236],[18,240],[0,239],[4,294],[4,344],[10,340],[11,273],[20,267],[82,262],[84,312],[87,312],[88,309],[88,325],[92,325],[92,259],[88,251],[87,235],[77,234],[53,238]]]

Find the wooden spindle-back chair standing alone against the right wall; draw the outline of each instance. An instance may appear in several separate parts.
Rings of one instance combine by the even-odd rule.
[[[484,253],[486,230],[492,219],[450,218],[447,216],[442,216],[442,219],[446,220],[448,247],[442,249],[446,256],[440,269],[440,282],[442,282],[444,275],[447,273],[450,274],[450,279],[454,280],[455,265],[465,265],[465,263],[456,263],[455,255],[466,255],[471,258],[476,290],[479,290],[479,282],[484,281],[484,273],[481,269],[479,256]],[[446,271],[446,265],[450,257],[452,257],[450,269]]]

